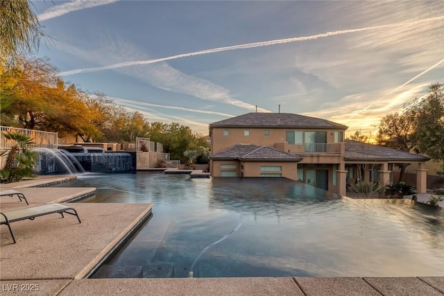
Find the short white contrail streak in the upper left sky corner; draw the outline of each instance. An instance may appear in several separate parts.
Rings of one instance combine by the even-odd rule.
[[[48,8],[40,15],[37,15],[39,21],[47,21],[48,19],[53,19],[56,17],[61,17],[62,15],[67,15],[69,12],[83,10],[87,8],[92,8],[96,6],[103,6],[110,3],[114,3],[117,0],[74,0],[71,2],[59,4]]]

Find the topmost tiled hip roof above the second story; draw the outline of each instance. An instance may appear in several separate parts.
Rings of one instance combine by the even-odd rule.
[[[210,129],[219,127],[339,128],[341,130],[348,128],[339,123],[299,114],[255,112],[210,123]]]

